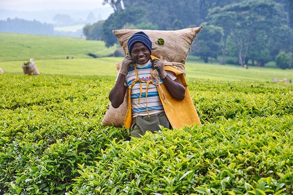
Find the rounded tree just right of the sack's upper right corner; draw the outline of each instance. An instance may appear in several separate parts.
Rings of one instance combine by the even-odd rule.
[[[191,45],[190,54],[200,56],[205,63],[209,62],[209,57],[217,59],[219,51],[221,51],[222,38],[224,36],[223,28],[214,25],[205,25],[201,29],[201,33],[196,37],[195,43]]]

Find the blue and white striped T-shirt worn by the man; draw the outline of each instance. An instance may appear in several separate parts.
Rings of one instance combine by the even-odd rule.
[[[151,70],[152,70],[152,63],[149,61],[146,64],[139,65],[136,64],[136,69],[137,69],[137,77],[140,80],[145,80],[149,81],[152,78],[151,75]],[[176,77],[173,75],[172,72],[166,71],[168,76],[172,79],[175,80]],[[135,75],[135,68],[134,66],[129,69],[126,77],[125,77],[125,85],[129,87],[131,83],[134,82],[136,79]],[[156,83],[155,79],[153,78],[153,82]],[[163,80],[160,78],[160,84],[163,82]],[[140,83],[136,82],[131,89],[130,92],[130,97],[131,97],[131,109],[132,109],[132,118],[136,116],[148,116],[148,112],[150,116],[151,115],[158,115],[164,112],[164,108],[162,105],[162,102],[160,100],[159,92],[157,89],[157,86],[150,83],[149,88],[148,88],[148,97],[145,98],[146,96],[146,82],[141,82],[142,83],[142,93],[140,97],[140,102],[138,103],[139,100],[139,95],[140,95]],[[146,106],[146,103],[148,106]]]

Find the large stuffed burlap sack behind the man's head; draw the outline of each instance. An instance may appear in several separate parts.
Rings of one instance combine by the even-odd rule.
[[[193,39],[200,32],[201,27],[185,28],[182,30],[137,30],[122,29],[113,30],[118,37],[120,45],[126,52],[127,41],[135,33],[143,31],[152,41],[152,55],[166,62],[178,62],[185,64],[190,52]],[[164,44],[160,40],[164,40]],[[161,44],[160,44],[161,43]]]

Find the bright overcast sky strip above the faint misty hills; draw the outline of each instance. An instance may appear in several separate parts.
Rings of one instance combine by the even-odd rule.
[[[15,11],[41,10],[92,10],[110,7],[102,5],[103,0],[0,0],[0,9]]]

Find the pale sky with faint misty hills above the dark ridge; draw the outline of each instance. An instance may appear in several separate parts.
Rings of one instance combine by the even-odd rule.
[[[99,20],[106,20],[113,12],[103,0],[0,0],[0,20],[8,18],[54,23],[57,14],[74,20],[85,20],[90,12]]]

